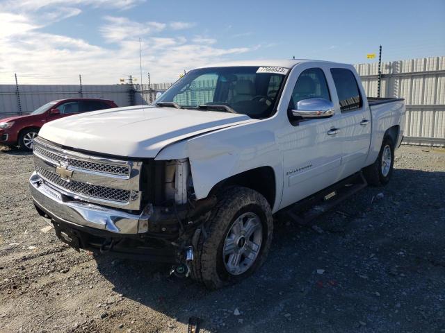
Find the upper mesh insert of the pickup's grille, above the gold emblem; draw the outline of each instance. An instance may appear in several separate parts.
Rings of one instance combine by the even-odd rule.
[[[121,165],[104,164],[104,163],[74,159],[71,157],[67,157],[65,155],[54,153],[49,149],[44,148],[44,146],[40,146],[38,144],[34,145],[34,153],[36,155],[41,155],[43,157],[46,157],[48,160],[51,160],[55,164],[64,162],[66,164],[69,164],[71,167],[84,169],[88,171],[95,171],[99,173],[108,173],[115,176],[129,176],[130,174],[130,168],[126,165],[121,166]]]

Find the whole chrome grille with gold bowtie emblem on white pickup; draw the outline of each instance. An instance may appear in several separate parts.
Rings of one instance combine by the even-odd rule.
[[[86,155],[34,139],[35,170],[67,196],[126,210],[140,210],[143,162]]]

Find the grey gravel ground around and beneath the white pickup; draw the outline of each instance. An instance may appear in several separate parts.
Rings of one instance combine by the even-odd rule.
[[[210,292],[43,232],[31,155],[3,148],[0,332],[445,332],[445,149],[403,146],[395,168],[315,228],[277,221],[266,264]]]

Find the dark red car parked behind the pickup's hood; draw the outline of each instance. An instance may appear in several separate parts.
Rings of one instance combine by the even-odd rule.
[[[24,116],[0,119],[0,144],[19,146],[24,150],[33,149],[33,139],[40,128],[49,121],[82,112],[117,108],[114,101],[108,99],[60,99],[42,105]]]

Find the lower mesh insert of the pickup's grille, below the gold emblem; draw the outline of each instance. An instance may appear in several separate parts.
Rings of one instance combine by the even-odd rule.
[[[127,203],[131,199],[131,191],[129,190],[90,185],[83,182],[76,182],[74,180],[67,182],[66,180],[60,178],[60,176],[58,176],[56,173],[39,166],[36,167],[36,171],[44,180],[47,180],[48,182],[53,183],[54,185],[57,185],[58,187],[61,187],[72,194],[102,200],[111,200],[118,203]]]

